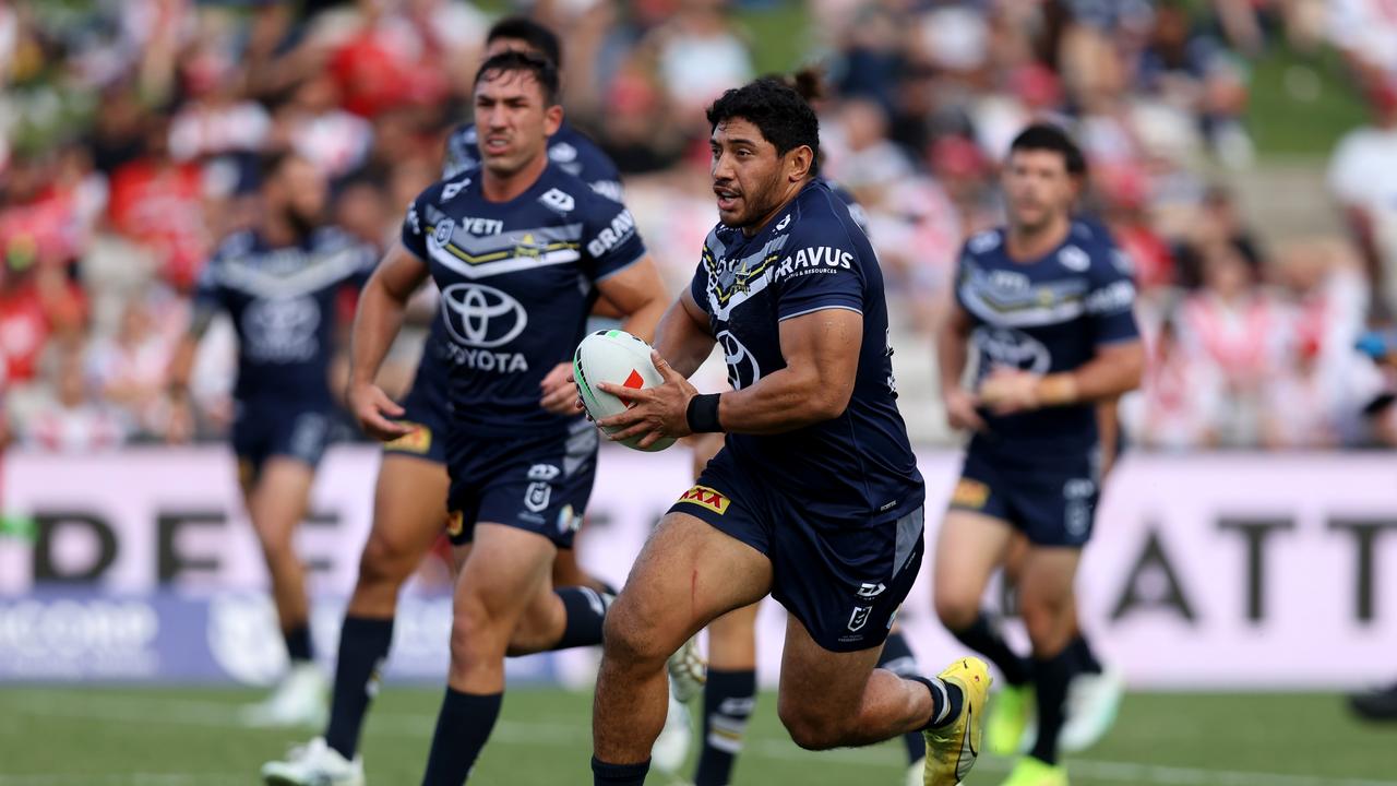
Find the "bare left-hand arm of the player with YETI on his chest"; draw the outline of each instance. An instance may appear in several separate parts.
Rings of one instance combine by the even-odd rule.
[[[412,292],[427,278],[427,264],[402,243],[394,243],[359,295],[349,341],[349,389],[345,400],[359,427],[391,441],[412,431],[390,418],[402,415],[376,379],[388,347],[402,327]]]

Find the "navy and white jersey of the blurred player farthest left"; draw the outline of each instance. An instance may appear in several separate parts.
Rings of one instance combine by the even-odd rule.
[[[281,248],[253,231],[229,235],[200,274],[194,308],[233,320],[233,397],[330,404],[335,298],[342,287],[362,287],[377,262],[372,246],[334,227]]]

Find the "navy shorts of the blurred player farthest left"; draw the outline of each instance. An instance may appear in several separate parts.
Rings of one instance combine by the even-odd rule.
[[[232,441],[239,469],[256,480],[272,456],[320,464],[334,435],[335,413],[320,406],[240,401],[233,415]]]

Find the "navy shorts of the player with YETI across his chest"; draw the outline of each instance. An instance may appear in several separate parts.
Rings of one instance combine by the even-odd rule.
[[[471,543],[476,522],[538,533],[573,547],[597,477],[597,428],[585,420],[541,436],[455,435],[447,445],[451,543]]]

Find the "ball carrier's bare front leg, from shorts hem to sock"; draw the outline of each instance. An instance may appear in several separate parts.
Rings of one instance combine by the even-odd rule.
[[[665,662],[722,614],[771,589],[771,562],[756,548],[685,513],[650,536],[606,617],[592,744],[597,759],[640,764],[665,724]]]

